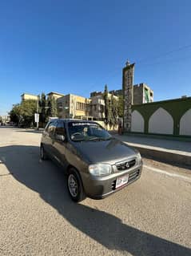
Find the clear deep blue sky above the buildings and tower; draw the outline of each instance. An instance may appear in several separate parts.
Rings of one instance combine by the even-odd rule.
[[[89,97],[134,84],[154,100],[191,96],[190,0],[0,1],[0,115],[24,92]]]

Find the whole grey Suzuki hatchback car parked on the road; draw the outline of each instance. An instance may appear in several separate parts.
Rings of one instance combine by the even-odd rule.
[[[141,176],[141,155],[94,121],[54,119],[42,133],[40,156],[66,172],[73,201],[101,199]]]

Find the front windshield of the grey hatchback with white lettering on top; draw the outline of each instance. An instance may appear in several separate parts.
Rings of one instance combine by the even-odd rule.
[[[88,122],[69,123],[69,133],[70,139],[74,141],[110,140],[112,137],[99,124]]]

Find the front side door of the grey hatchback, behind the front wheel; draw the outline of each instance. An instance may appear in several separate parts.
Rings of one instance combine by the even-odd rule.
[[[66,128],[64,120],[58,120],[54,133],[54,152],[58,162],[66,167]]]

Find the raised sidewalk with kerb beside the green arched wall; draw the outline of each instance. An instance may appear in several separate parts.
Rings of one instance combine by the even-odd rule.
[[[148,136],[120,136],[118,134],[113,134],[113,136],[137,148],[142,156],[174,165],[186,165],[191,169],[190,141],[165,140]]]

